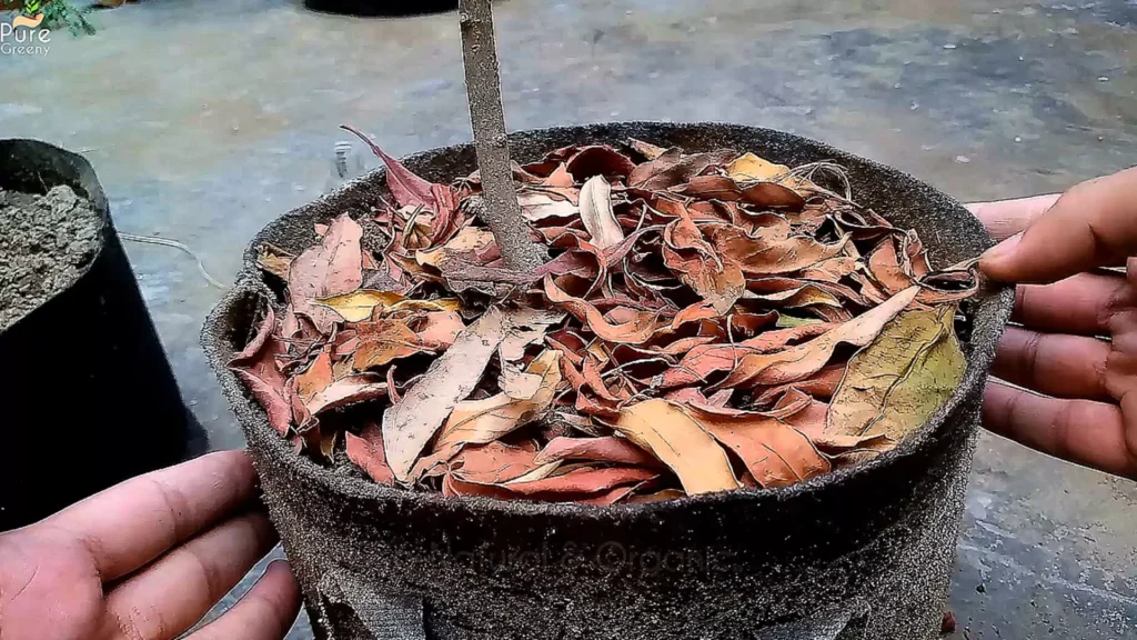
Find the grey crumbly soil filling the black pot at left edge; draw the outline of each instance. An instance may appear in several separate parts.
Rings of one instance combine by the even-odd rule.
[[[0,189],[0,330],[73,285],[101,246],[102,219],[70,187]]]

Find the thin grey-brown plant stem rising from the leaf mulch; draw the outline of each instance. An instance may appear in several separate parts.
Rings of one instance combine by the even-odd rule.
[[[485,197],[485,222],[497,239],[506,266],[530,271],[547,262],[548,253],[530,236],[513,186],[490,1],[458,2],[470,122],[474,130],[478,169]]]

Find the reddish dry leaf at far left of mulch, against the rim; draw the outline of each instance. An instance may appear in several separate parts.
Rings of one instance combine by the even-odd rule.
[[[288,345],[272,335],[276,327],[273,307],[268,306],[266,313],[252,342],[230,361],[229,367],[264,407],[268,424],[281,434],[288,434],[292,426],[292,404],[284,374],[276,366],[276,358],[288,353]]]

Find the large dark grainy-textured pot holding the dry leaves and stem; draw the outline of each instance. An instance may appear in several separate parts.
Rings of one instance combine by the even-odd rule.
[[[725,124],[603,124],[512,137],[514,157],[628,137],[688,151],[731,147],[790,165],[835,159],[861,203],[915,228],[937,264],[990,245],[965,208],[894,169],[819,142]],[[448,181],[474,169],[470,145],[407,166]],[[985,290],[970,309],[964,380],[895,451],[778,490],[595,508],[410,493],[297,457],[225,368],[266,301],[255,247],[293,252],[313,223],[370,215],[381,172],[276,220],[246,254],[204,345],[256,457],[273,520],[318,638],[930,640],[955,558],[981,392],[1012,303]]]

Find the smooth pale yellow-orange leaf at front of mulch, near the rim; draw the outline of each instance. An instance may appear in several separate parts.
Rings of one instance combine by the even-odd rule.
[[[632,404],[613,426],[675,471],[689,495],[738,489],[730,459],[714,436],[666,400]]]

